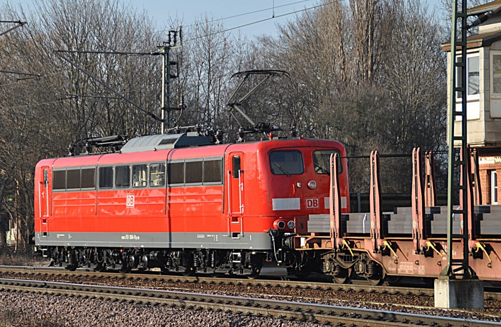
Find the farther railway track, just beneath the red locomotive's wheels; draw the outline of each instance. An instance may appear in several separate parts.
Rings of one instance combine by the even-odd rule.
[[[120,274],[116,272],[95,272],[92,269],[79,269],[68,271],[57,267],[21,267],[21,266],[0,266],[0,276],[7,276],[10,273],[22,274],[27,278],[40,277],[65,277],[65,276],[92,276],[94,278],[112,278],[122,280],[149,280],[163,281],[165,283],[200,283],[208,285],[237,285],[237,286],[263,286],[267,288],[288,288],[288,289],[316,289],[325,291],[348,291],[360,293],[381,293],[394,295],[434,295],[432,288],[402,286],[373,286],[369,284],[335,284],[332,282],[317,281],[297,281],[297,280],[272,280],[272,279],[246,279],[231,277],[199,277],[199,276],[174,276],[160,275],[153,273],[128,273]],[[24,278],[24,277],[23,277]],[[501,292],[485,291],[484,299],[501,300]]]

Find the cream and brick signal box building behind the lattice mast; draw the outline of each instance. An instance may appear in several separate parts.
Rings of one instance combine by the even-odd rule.
[[[497,204],[501,203],[501,0],[471,8],[468,16],[488,18],[466,42],[467,142],[478,153],[481,204]],[[447,52],[450,83],[450,42],[442,44],[442,50]],[[456,56],[460,58],[460,52]],[[461,110],[460,93],[454,98],[456,109]],[[447,94],[447,105],[449,101]],[[458,120],[454,130],[460,130]]]

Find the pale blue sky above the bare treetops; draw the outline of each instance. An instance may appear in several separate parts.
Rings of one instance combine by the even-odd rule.
[[[5,0],[4,0],[5,1]],[[8,0],[12,4],[22,4],[23,6],[30,6],[33,0]],[[273,13],[275,16],[291,13],[294,11],[302,10],[317,6],[318,0],[120,0],[124,4],[131,4],[139,10],[146,10],[150,16],[157,21],[157,26],[161,29],[164,23],[169,21],[169,17],[175,18],[176,16],[182,18],[185,25],[191,24],[197,17],[207,14],[208,17],[213,19],[220,19],[229,16],[260,11],[258,13],[229,18],[223,20],[225,28],[233,28],[240,25],[272,18]],[[289,6],[288,4],[296,3]],[[429,9],[438,3],[438,0],[427,0]],[[273,8],[275,10],[268,9]],[[268,9],[265,11],[261,11]],[[276,34],[276,24],[284,24],[287,20],[294,18],[293,15],[283,17],[276,17],[265,22],[249,25],[239,29],[243,35],[249,38],[263,34]]]

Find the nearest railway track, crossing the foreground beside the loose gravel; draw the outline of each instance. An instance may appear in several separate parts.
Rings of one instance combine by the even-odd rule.
[[[148,303],[188,309],[232,312],[240,315],[274,316],[298,321],[356,326],[494,326],[499,322],[402,313],[284,300],[237,297],[195,292],[111,287],[90,284],[0,278],[0,290],[36,292],[128,303]]]

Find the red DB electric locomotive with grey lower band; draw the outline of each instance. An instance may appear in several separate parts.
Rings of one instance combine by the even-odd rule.
[[[158,267],[255,276],[263,263],[305,271],[294,251],[310,215],[329,213],[332,140],[215,144],[198,132],[136,137],[119,152],[41,160],[35,244],[67,269]],[[347,162],[339,164],[343,212]],[[310,265],[316,266],[319,265]]]

